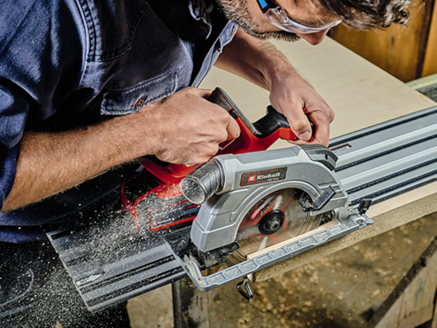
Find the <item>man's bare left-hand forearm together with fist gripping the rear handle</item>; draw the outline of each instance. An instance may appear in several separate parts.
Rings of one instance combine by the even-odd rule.
[[[138,112],[61,133],[24,133],[17,173],[2,211],[38,201],[144,155],[201,164],[239,135],[238,124],[207,101],[209,90],[185,88]]]

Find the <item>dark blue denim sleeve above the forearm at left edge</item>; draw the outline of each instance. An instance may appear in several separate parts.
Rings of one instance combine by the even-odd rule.
[[[0,10],[0,206],[14,184],[24,130],[65,108],[83,60],[83,23],[71,1],[13,0]],[[31,126],[31,123],[34,126]],[[43,129],[41,129],[43,130]]]

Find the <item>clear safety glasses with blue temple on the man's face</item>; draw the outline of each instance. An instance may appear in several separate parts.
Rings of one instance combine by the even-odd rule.
[[[263,12],[264,16],[269,20],[270,24],[286,32],[298,33],[298,34],[310,34],[310,33],[325,31],[341,23],[341,19],[340,19],[331,24],[321,27],[305,26],[299,24],[298,22],[293,21],[290,17],[287,16],[285,11],[281,7],[274,5],[270,0],[257,0],[257,1],[261,8],[261,11]]]

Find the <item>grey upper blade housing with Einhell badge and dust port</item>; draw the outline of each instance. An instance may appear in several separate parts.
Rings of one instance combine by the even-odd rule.
[[[336,160],[320,145],[215,157],[181,182],[187,199],[206,201],[193,221],[191,241],[203,252],[231,244],[252,206],[284,188],[301,189],[310,204],[324,201],[306,209],[311,216],[345,206],[348,195],[333,171]]]

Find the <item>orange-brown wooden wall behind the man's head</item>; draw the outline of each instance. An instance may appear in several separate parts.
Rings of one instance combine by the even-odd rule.
[[[413,0],[407,27],[354,31],[340,25],[329,36],[407,82],[437,73],[436,8],[435,0]]]

